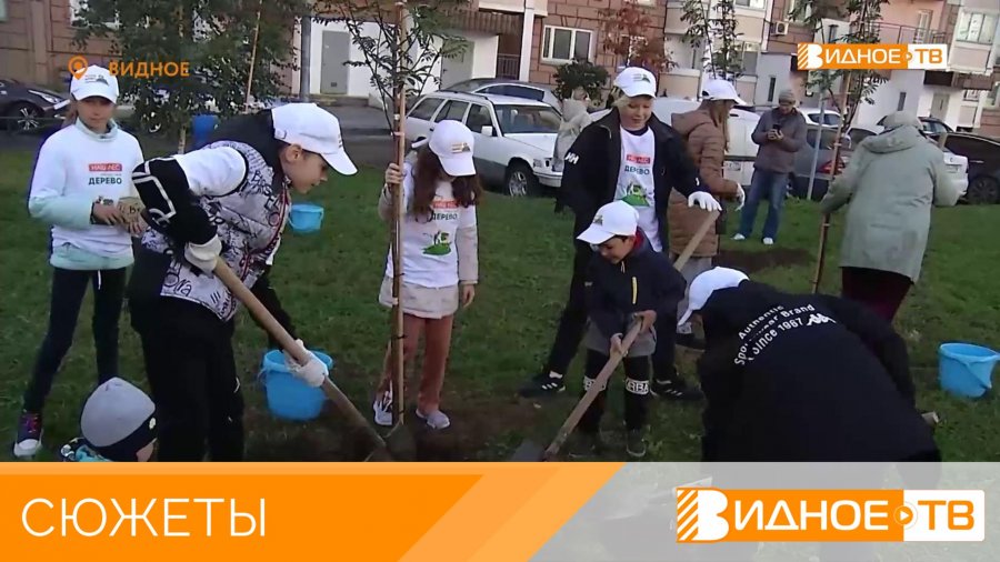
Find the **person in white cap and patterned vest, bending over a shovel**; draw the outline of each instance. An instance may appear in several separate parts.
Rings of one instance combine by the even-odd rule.
[[[339,121],[313,103],[289,103],[232,119],[201,149],[133,171],[150,228],[136,257],[129,307],[160,412],[161,461],[200,461],[206,444],[213,461],[242,460],[243,401],[232,350],[239,302],[216,264],[224,260],[287,321],[263,273],[291,190],[309,192],[329,168],[357,172]],[[328,375],[316,355],[306,365],[289,359],[288,368],[312,387]]]

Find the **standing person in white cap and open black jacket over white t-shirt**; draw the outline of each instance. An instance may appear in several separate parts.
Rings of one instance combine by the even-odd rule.
[[[566,388],[563,375],[587,328],[583,278],[593,253],[576,237],[590,225],[601,205],[623,200],[636,207],[640,228],[656,251],[662,251],[662,241],[667,240],[671,190],[683,193],[691,207],[720,210],[718,201],[701,185],[681,136],[652,114],[657,94],[653,74],[641,68],[627,68],[616,78],[614,86],[622,93],[614,108],[583,129],[566,154],[557,212],[568,207],[576,215],[573,277],[548,363],[521,388],[523,397],[554,394]],[[673,364],[676,318],[661,318],[657,323],[666,328],[657,330],[661,339],[652,359],[652,392],[679,400],[700,399],[701,392],[689,389]]]

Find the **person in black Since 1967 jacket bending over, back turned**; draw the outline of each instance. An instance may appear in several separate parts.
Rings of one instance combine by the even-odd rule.
[[[703,461],[940,461],[906,342],[888,322],[724,268],[696,278],[690,294],[707,344]]]

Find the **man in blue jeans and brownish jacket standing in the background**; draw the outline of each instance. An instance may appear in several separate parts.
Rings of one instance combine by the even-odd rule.
[[[753,232],[757,207],[767,198],[768,218],[764,221],[763,243],[771,245],[778,237],[781,208],[788,189],[788,177],[796,161],[796,152],[806,143],[806,118],[796,110],[796,93],[783,90],[778,107],[760,116],[753,130],[753,142],[760,145],[753,162],[750,193],[740,215],[740,230],[733,240],[746,240]]]

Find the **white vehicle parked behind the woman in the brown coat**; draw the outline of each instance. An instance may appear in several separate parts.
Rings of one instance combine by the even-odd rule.
[[[674,113],[694,111],[701,104],[700,101],[684,100],[680,98],[653,99],[653,114],[667,124],[673,123]],[[594,120],[607,116],[610,110],[602,110],[593,114]],[[757,144],[751,136],[760,116],[747,108],[733,108],[729,112],[729,151],[726,153],[723,177],[736,181],[740,185],[749,187],[753,177],[753,160],[757,158]]]

